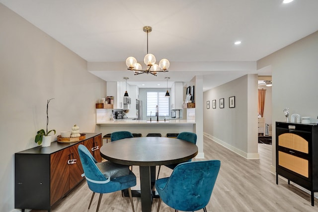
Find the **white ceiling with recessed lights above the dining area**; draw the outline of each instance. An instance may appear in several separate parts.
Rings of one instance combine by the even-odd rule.
[[[106,81],[166,87],[164,77],[203,75],[207,90],[256,70],[256,61],[318,30],[318,0],[0,0],[88,62]],[[147,53],[169,72],[134,75],[125,65]],[[235,41],[241,41],[235,45]],[[158,63],[158,62],[157,62]],[[147,85],[148,84],[148,85]]]

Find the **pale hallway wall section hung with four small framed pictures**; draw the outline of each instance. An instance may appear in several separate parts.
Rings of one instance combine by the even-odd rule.
[[[235,96],[235,108],[229,108],[229,97]],[[220,99],[224,98],[224,108]],[[212,109],[212,100],[216,109]],[[210,109],[206,102],[210,101]],[[203,94],[203,132],[246,158],[257,153],[257,75],[247,74]]]

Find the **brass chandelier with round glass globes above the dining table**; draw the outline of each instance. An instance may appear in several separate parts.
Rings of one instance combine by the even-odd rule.
[[[167,72],[167,69],[170,66],[170,63],[167,59],[162,59],[159,62],[159,65],[156,64],[156,57],[153,54],[148,53],[148,33],[152,31],[151,26],[144,26],[144,32],[147,32],[147,55],[144,58],[144,63],[147,65],[146,70],[143,70],[142,66],[137,63],[136,58],[134,57],[128,57],[126,59],[126,66],[128,67],[128,70],[134,71],[135,75],[141,74],[141,73],[151,73],[155,76],[157,76],[158,72]]]

